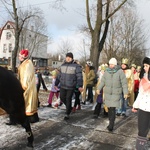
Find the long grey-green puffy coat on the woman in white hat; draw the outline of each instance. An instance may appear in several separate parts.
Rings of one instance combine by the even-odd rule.
[[[119,66],[107,68],[97,87],[104,92],[104,102],[107,107],[120,107],[121,94],[128,94],[127,79]]]

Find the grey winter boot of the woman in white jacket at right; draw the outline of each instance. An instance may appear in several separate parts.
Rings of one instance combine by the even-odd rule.
[[[142,136],[137,137],[136,150],[148,150],[148,142],[146,137],[142,137]]]

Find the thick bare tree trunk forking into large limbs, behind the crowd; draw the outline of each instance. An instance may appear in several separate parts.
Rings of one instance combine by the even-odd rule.
[[[98,67],[98,61],[100,53],[103,49],[105,39],[109,27],[109,18],[112,17],[125,3],[127,0],[116,1],[116,7],[110,12],[109,8],[111,3],[115,0],[97,0],[96,2],[96,19],[92,22],[92,15],[90,15],[89,0],[86,0],[86,14],[89,33],[91,35],[91,48],[90,48],[90,59],[93,61],[94,66]]]

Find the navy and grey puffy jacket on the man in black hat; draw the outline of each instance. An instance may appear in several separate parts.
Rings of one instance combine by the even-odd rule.
[[[65,62],[60,67],[60,73],[56,78],[55,85],[60,82],[61,88],[75,89],[83,86],[83,77],[81,66],[74,61]]]

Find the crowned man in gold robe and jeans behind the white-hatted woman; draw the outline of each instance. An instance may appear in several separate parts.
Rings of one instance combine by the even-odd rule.
[[[126,116],[127,103],[129,106],[132,106],[134,103],[134,75],[131,69],[129,69],[127,58],[122,59],[121,68],[125,73],[127,79],[129,93],[128,93],[128,101],[125,100],[123,97],[121,97],[121,108],[117,110],[117,116],[120,115]]]

